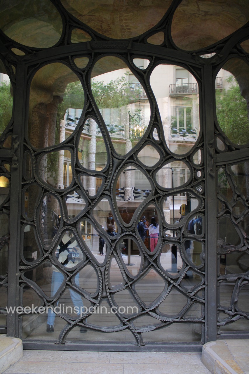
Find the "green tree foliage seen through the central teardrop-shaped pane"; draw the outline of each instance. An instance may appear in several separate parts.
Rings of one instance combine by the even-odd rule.
[[[125,76],[111,80],[106,85],[103,81],[92,79],[91,88],[99,109],[123,107],[130,102],[130,88]]]

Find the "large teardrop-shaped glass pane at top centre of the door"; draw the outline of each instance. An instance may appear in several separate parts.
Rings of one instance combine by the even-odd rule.
[[[150,120],[150,104],[142,83],[120,59],[111,58],[116,65],[112,74],[98,74],[100,66],[108,61],[110,57],[103,57],[93,68],[92,94],[115,151],[124,155],[144,135]],[[143,66],[146,64],[144,61]]]

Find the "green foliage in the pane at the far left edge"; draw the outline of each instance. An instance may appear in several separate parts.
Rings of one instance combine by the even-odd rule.
[[[0,85],[0,135],[5,130],[12,117],[13,98],[10,93],[10,83]]]

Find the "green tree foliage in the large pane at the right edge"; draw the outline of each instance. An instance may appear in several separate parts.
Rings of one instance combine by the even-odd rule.
[[[227,79],[231,83],[227,91],[216,91],[216,115],[219,126],[234,144],[249,142],[249,121],[246,100],[240,94],[236,79]]]

